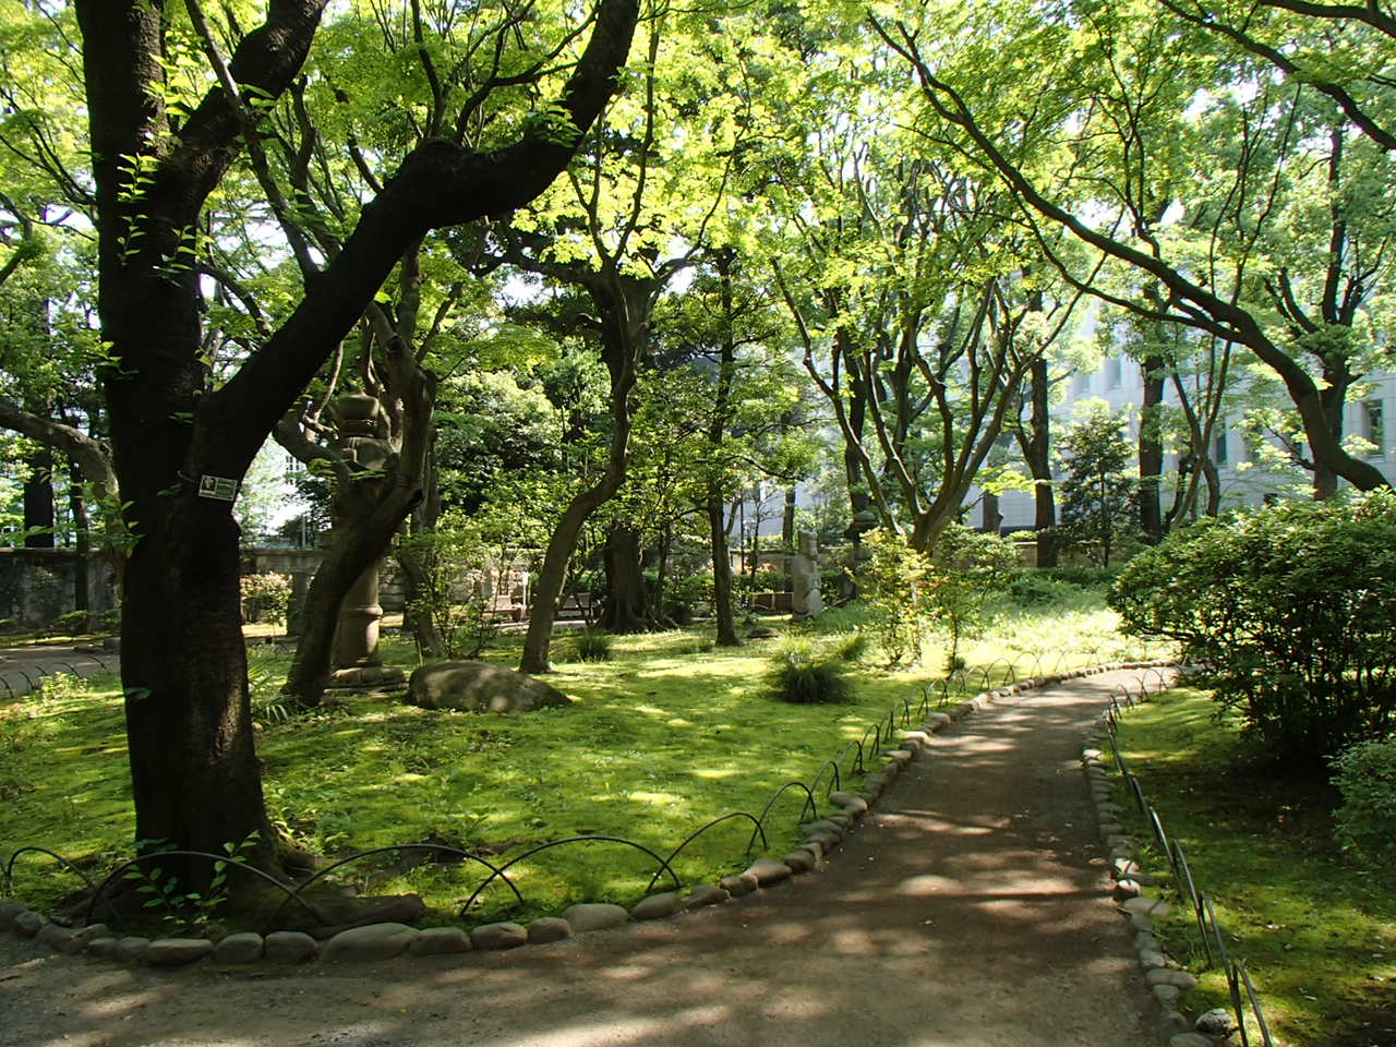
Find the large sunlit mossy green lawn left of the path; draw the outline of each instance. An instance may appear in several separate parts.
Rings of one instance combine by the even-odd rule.
[[[856,614],[845,614],[850,617]],[[824,631],[836,624],[838,617],[800,632],[832,653],[849,644],[849,632]],[[1113,627],[1099,603],[1057,616],[1005,613],[991,637],[963,651],[972,666],[993,664],[995,680],[1009,676],[1009,663],[1022,677],[1150,653],[1121,641]],[[771,698],[766,683],[782,642],[725,651],[697,628],[616,637],[609,662],[554,666],[549,683],[575,699],[571,708],[524,716],[426,711],[362,697],[290,720],[275,701],[289,656],[254,646],[250,676],[267,803],[275,824],[322,856],[431,839],[500,863],[574,835],[623,836],[667,854],[704,822],[727,811],[759,815],[786,782],[811,782],[893,702],[916,697],[944,660],[942,651],[928,649],[924,669],[888,671],[875,651],[867,652],[847,669],[846,704],[790,705]],[[565,641],[557,645],[560,656],[568,649]],[[387,638],[384,653],[394,664],[415,663],[402,638]],[[503,641],[486,658],[517,664],[517,641]],[[36,843],[101,872],[128,852],[133,817],[114,677],[13,706],[0,723],[0,856]],[[850,765],[852,757],[840,768],[845,775]],[[849,786],[857,783],[845,778]],[[799,790],[779,800],[766,853],[779,857],[799,842],[801,803]],[[750,833],[750,822],[718,826],[683,852],[678,875],[685,884],[711,882],[744,867]],[[759,853],[758,842],[752,857]],[[525,909],[510,907],[507,888],[496,885],[468,921],[522,919],[577,900],[631,905],[655,868],[652,859],[623,845],[557,847],[511,870],[529,899]],[[45,859],[22,860],[17,891],[45,900],[71,889],[50,871]],[[443,919],[459,910],[480,878],[479,866],[405,870],[398,854],[341,874],[341,882],[360,892],[422,893]]]

